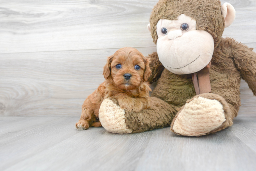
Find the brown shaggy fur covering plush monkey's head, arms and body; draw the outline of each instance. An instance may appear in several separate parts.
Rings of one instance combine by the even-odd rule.
[[[220,9],[219,0],[160,0],[155,5],[150,17],[152,38],[155,43],[157,41],[156,24],[159,19],[172,20],[180,14],[195,18],[196,29],[205,30],[213,36],[215,48],[209,72],[212,93],[214,94],[201,94],[199,96],[218,100],[223,105],[227,121],[209,133],[220,131],[233,124],[232,120],[238,115],[241,105],[239,96],[241,78],[248,83],[249,88],[256,96],[256,53],[252,51],[252,48],[248,48],[234,39],[221,37],[225,22]],[[173,114],[176,115],[178,111],[182,110],[182,106],[187,103],[187,100],[196,95],[190,74],[176,75],[171,73],[159,61],[157,52],[149,56],[152,61],[150,64],[152,75],[148,81],[152,83],[158,80],[151,96],[161,100],[156,100],[158,102],[157,107],[152,106],[152,110],[144,110],[144,115],[141,113],[126,114],[126,117],[129,118],[126,120],[126,124],[130,129],[137,130],[134,132],[156,128],[153,125],[157,121],[151,117],[155,118],[155,115],[168,113],[172,117]],[[169,107],[166,106],[166,102]],[[162,121],[163,123],[169,121],[169,118],[163,116],[162,118],[166,119]],[[135,122],[138,119],[142,123],[137,125]],[[151,123],[148,124],[148,128],[140,129],[143,127],[143,120],[150,120]],[[168,124],[163,125],[168,126]]]

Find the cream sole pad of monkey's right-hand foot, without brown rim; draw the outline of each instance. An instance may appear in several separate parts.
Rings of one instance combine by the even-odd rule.
[[[172,130],[185,136],[201,136],[226,121],[222,104],[205,97],[194,98],[178,114]]]

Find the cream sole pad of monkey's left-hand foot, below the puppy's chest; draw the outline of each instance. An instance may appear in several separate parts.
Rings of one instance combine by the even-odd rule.
[[[101,103],[99,118],[102,127],[108,132],[119,134],[132,132],[125,124],[125,111],[108,98]]]

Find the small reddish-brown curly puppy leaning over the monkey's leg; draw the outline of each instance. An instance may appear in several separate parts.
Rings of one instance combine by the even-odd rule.
[[[151,75],[149,59],[137,49],[121,48],[108,57],[103,67],[105,81],[90,94],[82,105],[80,120],[76,123],[78,130],[89,127],[101,127],[99,109],[107,97],[114,97],[122,109],[138,113],[150,107],[149,84]]]

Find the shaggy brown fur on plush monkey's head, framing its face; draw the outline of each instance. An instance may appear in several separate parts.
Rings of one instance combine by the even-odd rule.
[[[217,47],[225,28],[219,0],[159,0],[150,16],[150,28],[154,43],[157,41],[156,24],[159,19],[174,20],[185,14],[196,20],[196,29],[209,32]]]

